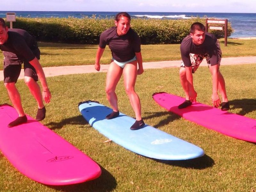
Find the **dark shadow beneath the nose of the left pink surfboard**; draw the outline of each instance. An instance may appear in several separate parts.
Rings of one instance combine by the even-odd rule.
[[[102,166],[101,168],[101,175],[98,179],[87,181],[80,184],[74,184],[74,185],[67,185],[67,186],[49,186],[50,188],[53,188],[58,191],[65,191],[65,192],[80,192],[80,191],[93,191],[93,192],[103,192],[103,191],[112,191],[116,188],[116,179],[109,173],[106,169],[104,169]]]

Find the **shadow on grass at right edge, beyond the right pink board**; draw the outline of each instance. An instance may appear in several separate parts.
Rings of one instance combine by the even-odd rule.
[[[242,109],[238,115],[246,115],[252,111],[256,110],[256,100],[255,99],[235,99],[229,101],[230,105],[234,105],[231,109]]]

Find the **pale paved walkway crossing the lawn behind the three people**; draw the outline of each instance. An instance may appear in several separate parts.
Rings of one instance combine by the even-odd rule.
[[[157,62],[144,62],[143,68],[172,68],[180,67],[181,60],[175,61],[157,61]],[[256,63],[256,57],[228,57],[221,59],[221,65],[237,65],[237,64],[249,64]],[[100,65],[99,72],[106,72],[109,65]],[[204,61],[201,66],[207,66]],[[62,67],[45,67],[44,73],[46,77],[60,76],[60,75],[71,75],[71,74],[82,74],[82,73],[99,73],[94,69],[94,65],[76,65],[76,66],[62,66]],[[23,79],[24,72],[21,70],[19,79]],[[4,73],[0,70],[0,80],[3,81]]]

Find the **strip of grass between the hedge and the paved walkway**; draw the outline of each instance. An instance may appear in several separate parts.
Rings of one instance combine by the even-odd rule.
[[[228,46],[224,46],[224,39],[220,39],[222,57],[256,56],[256,39],[241,40],[228,39]],[[39,42],[41,51],[40,63],[43,67],[67,65],[92,65],[98,45],[60,44]],[[180,44],[142,45],[143,62],[180,60]],[[111,52],[108,46],[100,60],[101,64],[109,64]],[[3,55],[0,54],[0,60]],[[0,70],[3,65],[0,65]]]

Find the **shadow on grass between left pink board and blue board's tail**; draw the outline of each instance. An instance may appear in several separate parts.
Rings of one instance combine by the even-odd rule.
[[[61,122],[51,122],[46,124],[45,126],[50,126],[49,128],[51,130],[53,129],[61,129],[64,125],[86,125],[88,124],[87,121],[84,119],[83,116],[79,115],[79,116],[73,116],[73,117],[69,117],[67,119],[62,119]]]

